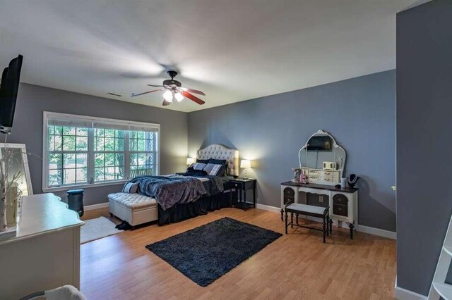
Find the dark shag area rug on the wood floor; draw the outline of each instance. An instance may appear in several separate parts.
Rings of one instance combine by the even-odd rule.
[[[222,218],[146,248],[207,287],[280,236],[272,230]]]

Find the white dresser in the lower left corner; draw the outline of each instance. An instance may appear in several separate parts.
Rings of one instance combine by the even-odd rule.
[[[0,242],[0,299],[62,285],[80,288],[80,227],[54,194],[24,196],[17,235]]]

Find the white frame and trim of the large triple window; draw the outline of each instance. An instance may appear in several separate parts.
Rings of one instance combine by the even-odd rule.
[[[129,121],[129,120],[117,120],[117,119],[109,119],[109,118],[97,118],[97,117],[90,117],[87,115],[73,115],[69,113],[52,113],[49,111],[43,112],[43,118],[42,118],[42,192],[57,192],[57,191],[64,191],[67,189],[71,189],[73,187],[77,188],[87,188],[87,187],[103,187],[107,185],[119,185],[121,183],[124,183],[128,180],[109,180],[107,182],[97,182],[97,183],[87,183],[87,184],[73,184],[73,185],[61,185],[57,187],[49,187],[49,154],[47,152],[47,139],[49,135],[49,131],[47,128],[47,123],[49,118],[62,118],[62,119],[78,119],[78,120],[84,120],[87,122],[93,122],[93,123],[104,123],[104,124],[112,124],[112,125],[122,125],[122,126],[129,126],[129,127],[144,127],[149,128],[153,130],[157,130],[157,162],[155,163],[155,166],[157,168],[156,174],[160,174],[160,124],[157,123],[143,123],[143,122],[136,122],[136,121]],[[92,135],[88,134],[88,165],[90,163],[94,164],[93,161],[90,161],[90,157],[94,157],[94,149],[93,146],[89,146],[90,143],[93,143]],[[129,135],[126,135],[126,143],[129,142]],[[129,149],[129,148],[127,148]],[[92,155],[90,155],[90,152],[93,152]],[[131,151],[125,151],[124,150],[124,171],[126,172],[126,175],[130,175],[130,161],[129,161],[129,154]],[[88,167],[89,168],[89,167]],[[89,176],[89,175],[88,175]]]

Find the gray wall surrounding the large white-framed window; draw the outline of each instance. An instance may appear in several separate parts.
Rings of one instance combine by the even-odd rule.
[[[186,168],[187,113],[21,83],[8,142],[25,143],[28,152],[42,157],[43,111],[159,123],[160,173],[180,172]],[[33,192],[42,193],[42,161],[32,156],[29,161]],[[86,188],[85,205],[105,202],[107,194],[120,189],[121,185]],[[64,196],[65,192],[54,194]]]

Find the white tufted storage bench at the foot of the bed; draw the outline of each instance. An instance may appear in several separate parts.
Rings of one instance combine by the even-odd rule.
[[[132,227],[158,219],[157,201],[141,194],[108,195],[110,214],[129,222]]]

